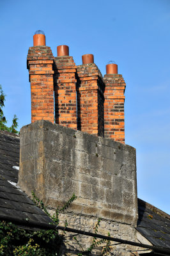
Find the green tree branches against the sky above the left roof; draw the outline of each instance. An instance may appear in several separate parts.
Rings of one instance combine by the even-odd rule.
[[[16,129],[18,127],[18,118],[16,115],[13,116],[12,120],[12,126],[8,127],[6,126],[6,118],[3,113],[3,107],[4,107],[4,101],[5,101],[5,96],[2,86],[0,84],[0,131],[8,131],[8,132],[13,132],[13,133],[19,133]]]

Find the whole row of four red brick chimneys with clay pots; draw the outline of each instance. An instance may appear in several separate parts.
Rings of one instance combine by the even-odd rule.
[[[125,143],[125,81],[118,65],[106,65],[104,78],[93,54],[82,55],[78,67],[68,45],[57,47],[54,58],[45,46],[45,34],[36,31],[27,68],[31,82],[31,122],[49,120],[89,134]]]

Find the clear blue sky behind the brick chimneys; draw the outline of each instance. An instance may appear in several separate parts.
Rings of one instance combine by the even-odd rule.
[[[41,29],[54,56],[69,45],[80,65],[92,53],[105,74],[116,61],[125,92],[125,141],[137,150],[138,197],[170,213],[170,1],[1,0],[0,84],[4,114],[31,122],[26,56]]]

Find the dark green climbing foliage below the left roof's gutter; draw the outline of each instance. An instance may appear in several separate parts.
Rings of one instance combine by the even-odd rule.
[[[0,255],[57,255],[62,237],[56,230],[24,230],[0,221]]]

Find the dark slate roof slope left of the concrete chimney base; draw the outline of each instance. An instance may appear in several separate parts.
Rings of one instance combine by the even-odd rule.
[[[17,167],[18,166],[18,167]],[[19,136],[0,131],[0,220],[45,228],[50,218],[17,186]]]

